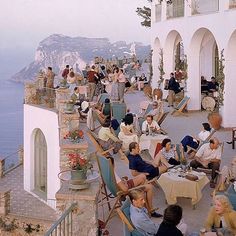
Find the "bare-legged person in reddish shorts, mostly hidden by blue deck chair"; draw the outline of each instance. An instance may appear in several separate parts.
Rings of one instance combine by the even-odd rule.
[[[145,182],[147,181],[146,179],[146,175],[145,174],[139,174],[137,176],[135,176],[132,179],[127,179],[127,177],[125,178],[120,178],[119,175],[117,175],[116,171],[115,171],[115,163],[114,163],[114,158],[112,157],[108,157],[109,159],[111,159],[113,168],[114,168],[114,174],[115,174],[115,179],[116,179],[116,183],[119,187],[119,189],[123,192],[128,192],[129,189],[140,186],[140,185],[144,185],[144,188],[142,188],[142,193],[145,193],[145,199],[146,199],[146,206],[149,210],[149,213],[151,214],[152,217],[160,217],[161,215],[158,214],[157,212],[155,212],[155,209],[153,208],[152,205],[152,199],[153,199],[153,185],[150,184],[145,184]]]

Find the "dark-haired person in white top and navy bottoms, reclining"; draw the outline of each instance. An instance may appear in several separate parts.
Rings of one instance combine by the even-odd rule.
[[[202,141],[205,141],[209,135],[211,134],[211,127],[208,123],[202,123],[203,130],[198,134],[198,137],[192,137],[189,135],[186,135],[182,140],[181,143],[183,145],[184,151],[187,152],[188,147],[197,149],[199,146],[199,143]]]

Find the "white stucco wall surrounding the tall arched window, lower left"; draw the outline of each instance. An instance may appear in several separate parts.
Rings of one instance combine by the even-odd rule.
[[[58,114],[32,105],[24,105],[24,189],[34,190],[34,134],[40,129],[47,143],[47,204],[55,207],[55,193],[60,188],[60,147]],[[33,193],[32,193],[33,194]],[[33,194],[34,195],[34,194]]]

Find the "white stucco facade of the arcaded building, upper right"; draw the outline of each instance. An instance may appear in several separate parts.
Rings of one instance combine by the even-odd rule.
[[[152,4],[152,13],[154,13],[155,0]],[[186,3],[186,1],[185,1]],[[191,1],[188,1],[191,4]],[[152,15],[151,27],[151,45],[154,52],[153,58],[158,56],[155,54],[155,40],[158,38],[159,45],[163,48],[164,53],[164,70],[166,72],[165,79],[169,77],[171,71],[174,70],[173,50],[178,37],[181,37],[184,45],[184,53],[187,55],[188,62],[188,81],[187,94],[190,96],[188,105],[189,110],[201,109],[201,92],[200,92],[200,77],[205,75],[207,79],[213,72],[213,41],[218,46],[219,52],[222,49],[229,48],[229,41],[232,34],[236,31],[236,9],[228,9],[229,0],[219,1],[219,11],[202,14],[191,15],[191,8],[188,4],[185,5],[185,16],[173,19],[166,19],[166,3],[163,1],[162,21],[155,22]],[[211,39],[206,37],[212,35]],[[213,40],[213,41],[212,41]],[[232,43],[232,40],[234,43]],[[231,45],[236,44],[236,39],[231,39]],[[203,49],[203,46],[205,48]],[[236,126],[236,110],[230,109],[231,101],[235,98],[235,70],[233,69],[236,61],[236,48],[231,46],[232,50],[225,50],[225,104],[223,110],[223,126]],[[228,58],[228,54],[230,59]],[[227,65],[228,63],[228,65]],[[157,66],[155,66],[157,68]],[[153,71],[154,78],[158,77],[158,72]],[[231,103],[231,104],[230,104]]]

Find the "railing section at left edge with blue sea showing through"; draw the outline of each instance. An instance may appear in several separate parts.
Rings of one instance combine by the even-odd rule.
[[[23,164],[23,148],[11,153],[0,160],[0,176],[3,177],[10,171]]]

